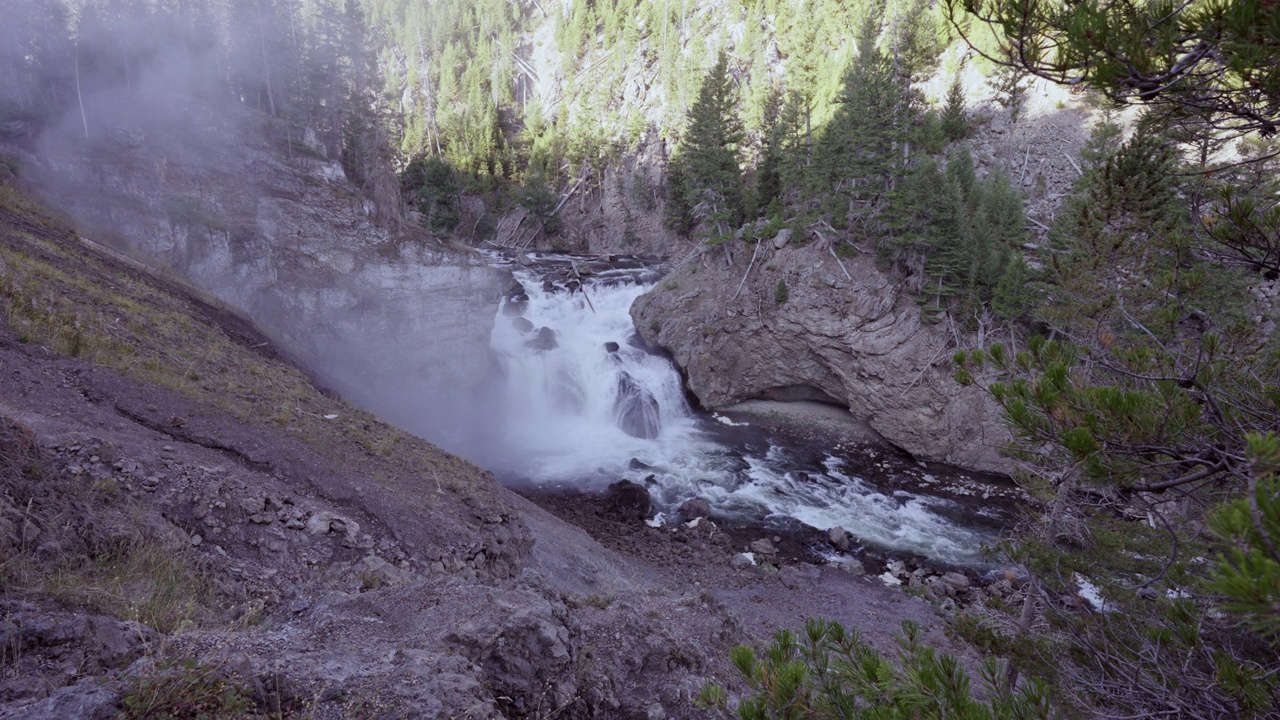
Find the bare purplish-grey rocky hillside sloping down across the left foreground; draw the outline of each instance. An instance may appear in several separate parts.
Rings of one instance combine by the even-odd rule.
[[[686,717],[735,642],[937,621],[566,506],[598,542],[3,182],[3,717]]]

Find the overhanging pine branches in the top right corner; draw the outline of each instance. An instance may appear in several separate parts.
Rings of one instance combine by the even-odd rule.
[[[1280,127],[1280,0],[947,0],[988,58],[1206,132]]]

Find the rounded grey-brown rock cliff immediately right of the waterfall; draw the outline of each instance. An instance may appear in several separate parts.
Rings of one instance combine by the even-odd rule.
[[[951,379],[951,329],[922,322],[870,256],[837,260],[817,242],[762,241],[735,295],[750,250],[699,251],[631,309],[636,329],[672,352],[704,406],[823,400],[916,457],[1007,469],[995,406]]]

